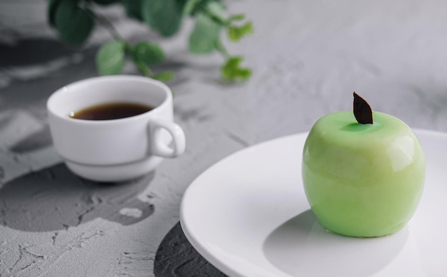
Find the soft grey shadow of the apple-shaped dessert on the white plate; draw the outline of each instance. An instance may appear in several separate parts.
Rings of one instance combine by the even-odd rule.
[[[308,210],[278,226],[263,252],[292,276],[371,276],[393,261],[407,238],[406,229],[381,238],[340,236],[326,231]]]

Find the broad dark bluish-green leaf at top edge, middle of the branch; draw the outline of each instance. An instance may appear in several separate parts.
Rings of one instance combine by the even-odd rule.
[[[184,3],[183,0],[146,0],[143,19],[161,36],[172,36],[179,31]]]

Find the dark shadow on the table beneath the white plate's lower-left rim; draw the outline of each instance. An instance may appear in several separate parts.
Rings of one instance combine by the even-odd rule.
[[[225,277],[191,246],[177,223],[161,241],[154,261],[155,276]]]

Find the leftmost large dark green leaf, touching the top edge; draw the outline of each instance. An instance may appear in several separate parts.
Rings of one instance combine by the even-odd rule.
[[[56,8],[54,24],[61,39],[68,44],[79,45],[89,37],[94,21],[91,11],[83,9],[74,0],[60,0]]]

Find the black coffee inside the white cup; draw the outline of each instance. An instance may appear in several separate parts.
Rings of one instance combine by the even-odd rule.
[[[154,108],[144,104],[111,102],[90,106],[86,109],[81,109],[80,111],[71,112],[70,117],[73,119],[86,120],[124,119],[129,116],[136,116],[146,113],[146,111],[151,111],[151,109]]]

